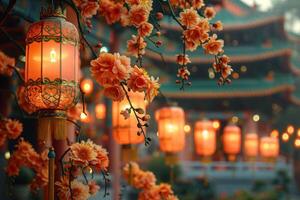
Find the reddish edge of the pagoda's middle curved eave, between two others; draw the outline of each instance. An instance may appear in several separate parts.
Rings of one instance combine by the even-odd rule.
[[[225,51],[226,52],[226,51]],[[291,56],[293,50],[290,48],[284,48],[280,50],[273,50],[273,51],[266,51],[262,53],[257,53],[257,54],[249,54],[249,55],[230,55],[230,60],[233,63],[244,63],[244,62],[252,62],[252,61],[260,61],[260,60],[265,60],[273,57],[278,57],[278,56]],[[175,54],[174,54],[175,55]],[[165,55],[163,54],[164,61],[166,62],[174,62],[176,63],[176,56],[171,56],[171,55]],[[155,59],[155,60],[161,60],[161,56],[153,51],[147,50],[146,51],[146,56]],[[213,56],[211,57],[202,57],[199,55],[199,57],[190,57],[191,61],[193,63],[212,63],[214,61]]]

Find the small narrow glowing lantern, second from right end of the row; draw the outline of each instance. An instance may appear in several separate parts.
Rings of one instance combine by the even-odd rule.
[[[256,133],[245,135],[244,150],[245,156],[248,158],[254,158],[258,155],[258,135]]]

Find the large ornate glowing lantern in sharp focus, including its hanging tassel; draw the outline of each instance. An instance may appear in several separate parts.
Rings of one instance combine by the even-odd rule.
[[[61,9],[41,12],[26,35],[27,101],[39,111],[39,136],[66,137],[65,111],[79,95],[79,36]]]

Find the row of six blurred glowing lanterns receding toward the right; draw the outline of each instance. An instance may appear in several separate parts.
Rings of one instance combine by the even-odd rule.
[[[130,93],[135,107],[146,108],[143,95]],[[113,136],[121,145],[138,144],[143,142],[143,137],[137,136],[138,128],[133,115],[125,120],[120,112],[128,107],[126,100],[113,103]],[[158,124],[159,147],[162,152],[176,154],[185,147],[185,114],[177,106],[163,107],[156,111],[155,120]],[[217,149],[217,129],[219,125],[209,120],[195,123],[194,141],[196,153],[202,157],[211,157]],[[224,128],[222,137],[224,153],[229,160],[234,160],[241,152],[241,129],[233,124]],[[263,158],[274,159],[279,155],[279,140],[277,137],[261,137],[256,133],[245,135],[244,154],[246,157],[255,158],[259,154]]]

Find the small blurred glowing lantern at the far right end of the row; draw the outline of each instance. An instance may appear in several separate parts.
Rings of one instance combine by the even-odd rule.
[[[279,141],[274,137],[262,137],[260,139],[260,155],[265,159],[274,159],[279,155]]]

